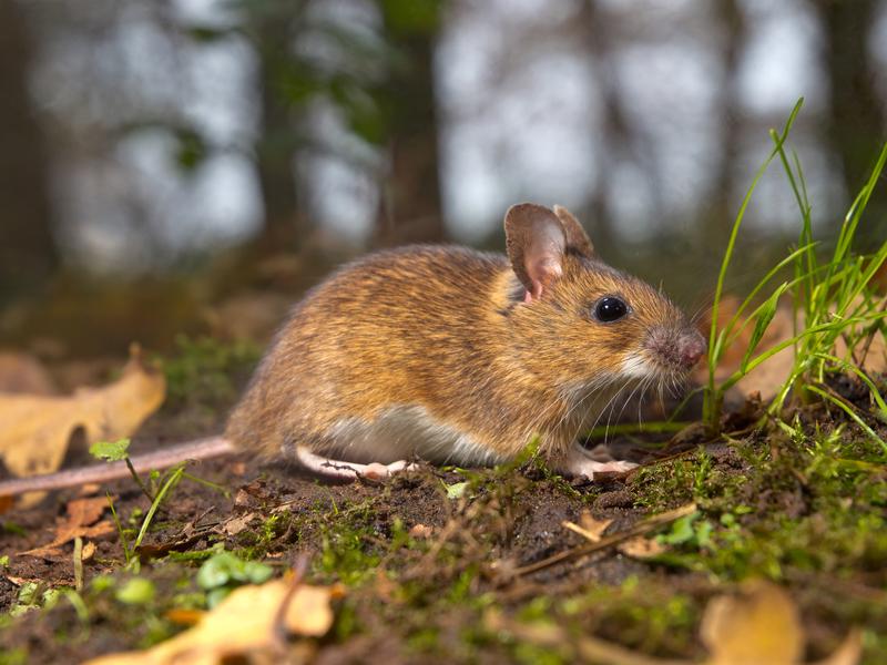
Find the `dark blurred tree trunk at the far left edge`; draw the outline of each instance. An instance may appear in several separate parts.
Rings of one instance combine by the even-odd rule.
[[[0,0],[0,300],[40,285],[59,265],[49,163],[28,91],[32,58],[18,2]]]

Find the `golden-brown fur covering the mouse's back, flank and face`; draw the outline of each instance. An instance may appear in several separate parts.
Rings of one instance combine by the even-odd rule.
[[[333,454],[341,449],[334,423],[415,405],[497,458],[540,434],[549,458],[563,459],[585,420],[578,401],[600,408],[636,383],[621,374],[631,354],[663,377],[680,374],[645,340],[689,327],[648,284],[585,256],[584,241],[568,247],[563,275],[532,303],[504,256],[461,247],[405,247],[344,267],[297,306],[226,437],[268,454],[295,446]],[[631,314],[594,320],[604,295],[622,297]]]

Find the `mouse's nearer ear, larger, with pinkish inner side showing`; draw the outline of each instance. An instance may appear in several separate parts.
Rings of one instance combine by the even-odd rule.
[[[563,274],[567,234],[547,207],[519,203],[506,213],[506,249],[511,268],[527,288],[527,301],[542,297]]]

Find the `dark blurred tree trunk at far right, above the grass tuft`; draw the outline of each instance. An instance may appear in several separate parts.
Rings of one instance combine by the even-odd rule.
[[[847,195],[853,198],[871,173],[885,139],[885,103],[875,85],[869,51],[877,0],[813,0],[824,35],[824,64],[828,74],[827,141],[840,160]],[[875,191],[868,218],[883,232],[887,195]]]

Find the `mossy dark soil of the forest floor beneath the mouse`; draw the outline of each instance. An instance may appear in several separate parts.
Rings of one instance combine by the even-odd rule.
[[[173,377],[179,398],[149,421],[136,452],[221,428],[244,368],[186,360],[196,383]],[[865,397],[849,382],[835,389]],[[120,526],[83,532],[82,571],[70,542],[22,554],[52,541],[84,495],[57,492],[0,516],[0,663],[80,662],[183,631],[183,616],[213,602],[197,573],[222,550],[276,576],[307,562],[307,583],[340,585],[332,628],[299,642],[300,657],[317,663],[595,662],[587,637],[630,649],[625,657],[700,662],[711,648],[701,637],[706,605],[750,579],[788,592],[806,661],[856,630],[863,662],[887,662],[884,451],[836,409],[799,410],[804,433],[794,437],[752,427],[758,416],[754,405],[732,416],[732,433],[716,442],[700,429],[672,441],[622,438],[649,463],[593,483],[532,459],[347,485],[246,457],[193,464],[190,473],[218,487],[184,479],[172,490],[134,555],[137,574],[123,536],[132,543],[151,502],[132,480],[86,490],[109,490]],[[605,546],[673,509],[683,516],[633,541],[646,551],[620,538]],[[605,526],[604,541],[590,552],[565,522]]]

